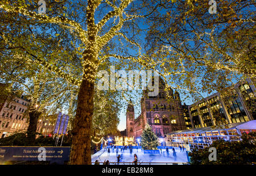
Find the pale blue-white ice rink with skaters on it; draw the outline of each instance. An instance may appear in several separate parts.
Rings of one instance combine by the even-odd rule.
[[[162,149],[162,153],[160,154],[144,154],[141,149],[133,149],[133,153],[130,154],[130,149],[126,149],[125,151],[121,152],[118,149],[118,154],[121,155],[119,165],[129,165],[129,163],[122,163],[122,162],[133,162],[134,161],[134,153],[138,156],[138,165],[139,164],[148,164],[148,163],[141,163],[141,162],[151,162],[151,164],[181,164],[181,162],[188,162],[187,153],[186,151],[180,151],[179,148],[175,148],[175,153],[172,152],[172,149],[169,148],[169,154],[167,154],[166,149]],[[92,164],[98,160],[99,162],[104,162],[105,160],[109,160],[109,162],[117,162],[117,153],[116,149],[114,151],[110,149],[110,153],[108,153],[108,149],[101,149],[97,153],[92,154]],[[152,163],[158,162],[158,163]],[[102,164],[102,163],[101,163]],[[113,164],[113,163],[110,163]],[[132,163],[131,163],[132,164]]]

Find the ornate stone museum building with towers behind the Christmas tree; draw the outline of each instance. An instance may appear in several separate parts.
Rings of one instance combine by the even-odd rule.
[[[141,115],[134,117],[134,106],[130,100],[126,110],[126,132],[128,137],[134,136],[134,140],[141,136],[142,131],[148,123],[158,138],[165,138],[171,131],[185,130],[183,107],[181,106],[180,95],[172,89],[168,95],[172,97],[167,101],[165,84],[159,78],[159,93],[157,96],[148,97],[148,91],[143,91],[141,98]]]

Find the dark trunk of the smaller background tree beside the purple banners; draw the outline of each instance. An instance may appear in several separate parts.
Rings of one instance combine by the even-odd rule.
[[[38,124],[38,118],[40,116],[40,112],[37,110],[32,110],[29,113],[30,123],[27,128],[27,138],[30,141],[31,145],[34,144],[36,138],[36,128]]]

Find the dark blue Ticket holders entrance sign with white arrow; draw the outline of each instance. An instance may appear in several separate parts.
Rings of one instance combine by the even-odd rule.
[[[0,161],[68,161],[70,149],[71,147],[0,147]],[[45,160],[42,159],[43,156]]]

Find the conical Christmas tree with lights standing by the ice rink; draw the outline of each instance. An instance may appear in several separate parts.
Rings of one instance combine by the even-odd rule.
[[[141,135],[141,147],[143,150],[155,150],[159,141],[151,127],[147,124]]]

